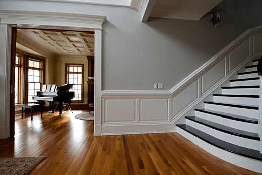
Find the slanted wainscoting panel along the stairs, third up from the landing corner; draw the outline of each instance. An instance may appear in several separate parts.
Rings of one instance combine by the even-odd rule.
[[[250,55],[250,39],[229,54],[229,72]]]

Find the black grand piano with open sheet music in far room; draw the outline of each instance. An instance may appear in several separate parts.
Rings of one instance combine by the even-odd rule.
[[[61,116],[62,114],[63,102],[67,103],[70,109],[70,104],[72,103],[71,99],[73,99],[75,96],[75,92],[73,91],[73,84],[65,84],[59,87],[57,87],[55,84],[48,84],[46,86],[43,86],[43,90],[44,89],[45,91],[38,91],[37,95],[33,97],[33,100],[41,102],[41,111],[43,111],[44,101],[50,103],[50,113],[54,113],[54,103],[59,102],[59,116]]]

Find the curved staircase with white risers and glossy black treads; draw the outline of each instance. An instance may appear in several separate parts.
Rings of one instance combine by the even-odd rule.
[[[186,116],[186,124],[177,132],[211,154],[235,165],[262,173],[260,154],[258,60],[222,87],[222,94],[213,94],[204,109],[195,109],[195,116]]]

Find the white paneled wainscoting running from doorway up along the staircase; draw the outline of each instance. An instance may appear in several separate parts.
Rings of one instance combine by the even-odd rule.
[[[101,134],[176,132],[179,119],[251,59],[262,56],[260,38],[262,26],[248,29],[170,90],[101,91]],[[118,106],[122,109],[115,113]]]

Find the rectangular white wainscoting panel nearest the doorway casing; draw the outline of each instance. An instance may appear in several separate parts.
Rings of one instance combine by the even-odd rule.
[[[105,120],[108,122],[136,122],[135,99],[105,99]]]

